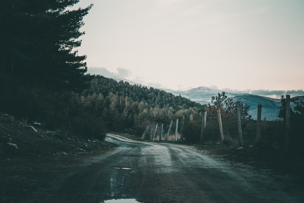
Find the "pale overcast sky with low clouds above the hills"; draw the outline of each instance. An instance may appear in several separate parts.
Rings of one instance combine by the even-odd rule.
[[[303,0],[80,0],[88,73],[145,86],[304,95]],[[106,75],[108,74],[108,75]]]

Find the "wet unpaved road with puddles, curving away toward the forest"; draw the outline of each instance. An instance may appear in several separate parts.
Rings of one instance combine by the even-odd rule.
[[[119,148],[60,184],[55,202],[303,202],[288,177],[232,166],[192,147],[136,142],[108,135]],[[287,182],[286,182],[287,181]]]

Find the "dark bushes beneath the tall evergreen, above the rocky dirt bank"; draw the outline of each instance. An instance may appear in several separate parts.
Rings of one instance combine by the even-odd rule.
[[[51,92],[44,87],[22,86],[9,77],[0,77],[1,110],[24,118],[26,121],[43,123],[51,130],[72,131],[75,135],[105,138],[102,120],[94,111],[73,103],[72,93]],[[14,117],[10,117],[13,122]]]

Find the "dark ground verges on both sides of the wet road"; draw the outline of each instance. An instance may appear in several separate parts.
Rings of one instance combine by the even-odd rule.
[[[54,182],[117,146],[32,125],[37,132],[22,121],[0,115],[0,202],[35,202],[36,197],[49,195],[50,187],[56,185]],[[16,144],[18,149],[7,142]],[[277,177],[292,177],[293,188],[304,190],[303,156],[254,147],[194,146],[235,166],[248,165],[257,171],[279,174]]]

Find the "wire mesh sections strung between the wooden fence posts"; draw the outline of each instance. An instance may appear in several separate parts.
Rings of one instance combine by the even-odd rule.
[[[249,120],[241,121],[242,139],[244,146],[253,146],[256,144],[257,137],[257,107],[250,109],[252,118]],[[281,118],[278,117],[279,108],[278,104],[262,107],[261,111],[261,138],[271,143],[272,145],[284,144],[284,123]],[[178,119],[178,125],[176,128],[177,120],[170,123],[163,124],[161,130],[161,124],[151,124],[148,126],[143,139],[152,140],[181,140],[186,139],[189,141],[199,142],[202,135],[202,115],[193,115],[192,119],[190,115]],[[219,130],[219,119],[217,116],[207,115],[206,128],[204,129],[203,142],[207,143],[220,143],[238,145],[240,132],[238,129],[237,115],[221,116],[223,127],[223,141],[221,141]],[[183,125],[183,126],[182,126]],[[156,129],[155,129],[156,128]],[[176,130],[177,129],[177,130]],[[273,143],[277,142],[277,143]]]

